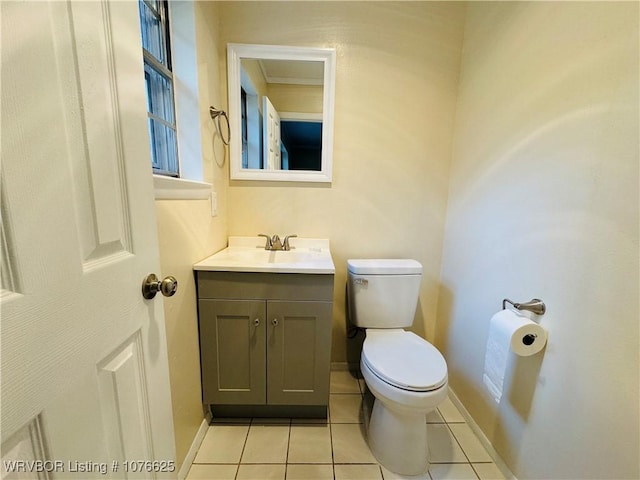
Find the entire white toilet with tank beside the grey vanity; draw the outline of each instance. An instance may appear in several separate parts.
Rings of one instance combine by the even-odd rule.
[[[413,324],[422,265],[409,259],[347,260],[353,324],[366,330],[360,369],[375,401],[367,441],[401,475],[429,469],[426,415],[447,397],[447,364]]]

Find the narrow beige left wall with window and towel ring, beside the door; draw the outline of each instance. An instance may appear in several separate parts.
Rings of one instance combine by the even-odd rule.
[[[224,48],[218,41],[215,2],[197,3],[194,13],[203,176],[218,194],[218,216],[211,217],[209,200],[156,201],[162,274],[174,275],[179,283],[176,295],[164,301],[178,468],[204,417],[192,265],[224,248],[227,242],[228,162],[209,117],[209,105],[226,108],[226,94],[219,80],[224,74],[219,70]]]

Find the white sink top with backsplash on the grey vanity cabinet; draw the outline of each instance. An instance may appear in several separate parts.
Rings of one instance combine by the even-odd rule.
[[[292,238],[291,250],[265,250],[264,238],[229,237],[229,246],[194,265],[194,270],[333,274],[329,240]]]

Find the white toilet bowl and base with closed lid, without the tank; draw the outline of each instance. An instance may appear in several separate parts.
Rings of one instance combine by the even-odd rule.
[[[367,440],[376,459],[402,475],[426,472],[426,415],[448,390],[442,355],[411,332],[367,330],[360,369],[375,397]]]

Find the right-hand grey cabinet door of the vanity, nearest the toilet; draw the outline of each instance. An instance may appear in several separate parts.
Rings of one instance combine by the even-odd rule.
[[[267,402],[327,405],[331,302],[267,302]]]

